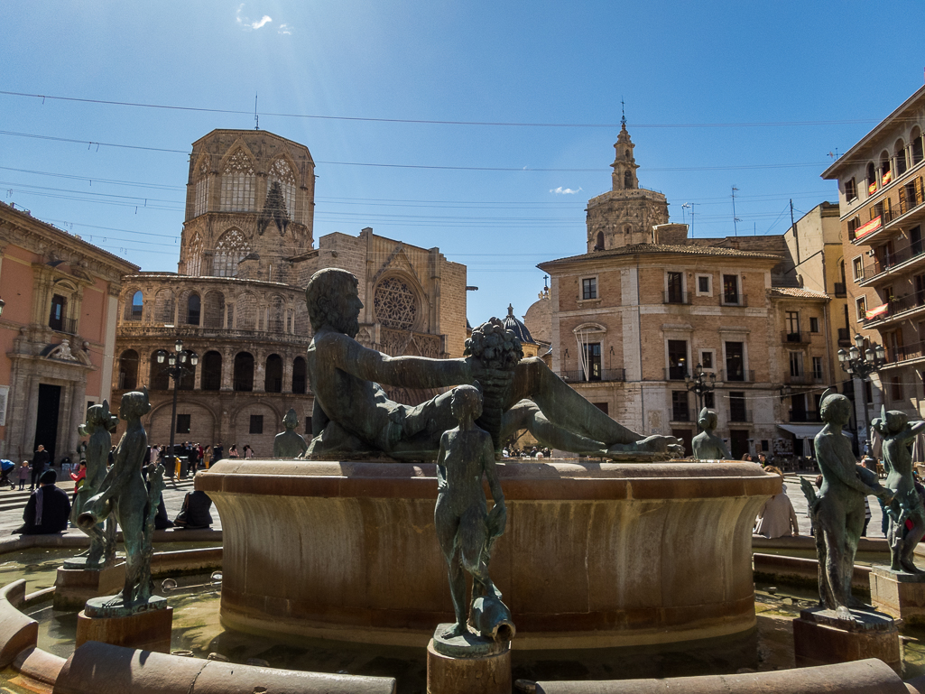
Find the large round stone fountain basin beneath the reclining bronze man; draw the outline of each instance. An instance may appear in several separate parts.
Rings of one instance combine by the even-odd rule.
[[[515,649],[728,636],[756,624],[751,529],[781,477],[734,461],[498,464],[508,505],[491,575]],[[224,626],[421,646],[452,615],[435,465],[221,461]]]

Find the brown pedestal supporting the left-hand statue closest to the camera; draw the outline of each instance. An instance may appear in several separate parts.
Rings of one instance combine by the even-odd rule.
[[[115,605],[107,603],[118,601]],[[77,646],[102,641],[113,646],[170,652],[173,608],[153,596],[146,604],[125,608],[121,599],[94,598],[77,616]]]

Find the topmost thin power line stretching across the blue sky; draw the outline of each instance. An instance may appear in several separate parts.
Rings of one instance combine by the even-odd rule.
[[[73,96],[55,96],[50,94],[31,94],[21,92],[4,92],[0,94],[6,96],[19,96],[33,99],[51,99],[55,101],[77,102],[81,104],[96,105],[117,105],[130,106],[134,108],[159,108],[171,111],[193,111],[197,113],[222,113],[233,115],[247,116],[265,116],[275,118],[314,118],[318,120],[348,120],[371,123],[409,123],[416,125],[454,125],[454,126],[479,126],[479,127],[496,127],[496,128],[605,128],[619,129],[618,123],[529,123],[529,122],[506,122],[506,121],[479,121],[479,120],[433,120],[424,118],[368,118],[360,116],[320,116],[316,114],[301,113],[258,113],[253,111],[238,110],[231,108],[204,108],[197,106],[181,106],[166,104],[144,104],[139,102],[128,101],[110,101],[106,99],[88,99]],[[913,118],[909,118],[913,120]],[[742,123],[629,123],[630,128],[782,128],[782,127],[805,127],[820,125],[854,125],[857,123],[877,123],[880,122],[874,118],[852,118],[847,120],[781,120],[781,121],[753,121]]]

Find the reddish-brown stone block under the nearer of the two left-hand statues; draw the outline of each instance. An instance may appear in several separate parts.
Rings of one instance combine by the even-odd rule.
[[[173,608],[164,606],[127,616],[77,615],[77,647],[87,641],[100,641],[113,646],[142,651],[170,652],[170,631]]]

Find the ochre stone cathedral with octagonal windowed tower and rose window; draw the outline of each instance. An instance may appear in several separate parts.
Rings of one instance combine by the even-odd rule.
[[[179,381],[178,441],[220,441],[226,452],[250,444],[268,456],[290,408],[310,433],[304,290],[323,267],[359,280],[366,346],[462,356],[465,266],[373,229],[314,247],[313,218],[314,162],[302,144],[263,130],[214,130],[193,143],[179,273],[130,275],[119,297],[114,388],[151,391],[149,440],[170,438],[173,384],[154,355],[177,338],[200,359]],[[390,394],[419,402],[433,393]]]

